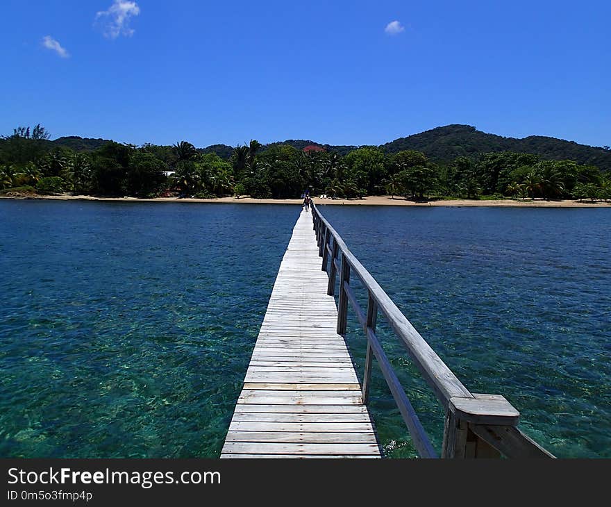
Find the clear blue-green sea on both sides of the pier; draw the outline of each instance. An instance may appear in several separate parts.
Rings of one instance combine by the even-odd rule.
[[[0,457],[218,456],[299,210],[0,201]],[[557,456],[611,457],[609,210],[321,211],[467,388]],[[379,374],[372,395],[386,453],[414,456]]]

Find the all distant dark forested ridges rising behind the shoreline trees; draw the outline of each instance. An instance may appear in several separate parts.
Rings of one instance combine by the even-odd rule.
[[[76,151],[93,151],[108,140],[68,136],[52,142]],[[263,149],[278,144],[289,144],[299,150],[313,145],[322,147],[327,151],[335,151],[342,156],[358,149],[358,146],[321,144],[302,139],[273,142],[266,144]],[[529,135],[526,138],[505,138],[501,135],[478,131],[474,126],[460,124],[440,126],[408,135],[408,137],[382,144],[380,149],[389,154],[405,149],[415,149],[422,151],[428,158],[438,162],[449,162],[459,156],[476,156],[478,153],[517,151],[534,153],[552,160],[575,160],[579,164],[596,165],[605,171],[611,170],[611,150],[608,147],[592,147],[587,146],[587,144],[578,144],[574,141],[549,138],[542,135]],[[201,153],[217,153],[221,158],[228,158],[233,152],[233,147],[228,144],[212,144],[206,148],[199,148],[198,151]]]

